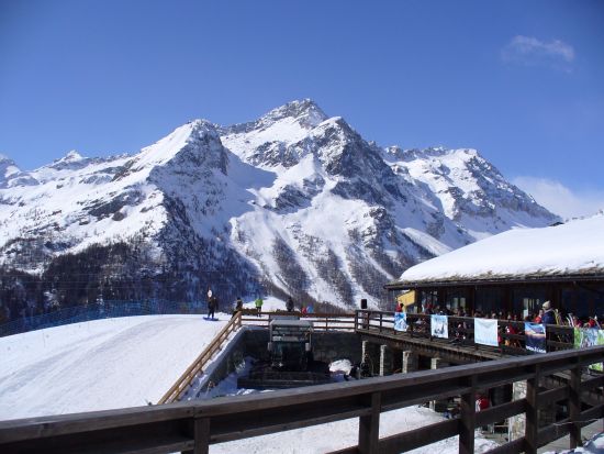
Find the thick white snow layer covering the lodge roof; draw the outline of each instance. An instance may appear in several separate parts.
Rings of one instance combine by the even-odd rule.
[[[441,281],[604,277],[604,215],[513,229],[415,265],[390,286]]]

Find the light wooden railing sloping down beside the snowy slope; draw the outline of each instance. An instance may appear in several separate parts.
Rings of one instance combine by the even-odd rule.
[[[169,403],[180,400],[191,386],[193,379],[204,370],[205,365],[223,348],[230,335],[242,326],[242,313],[236,313],[231,321],[215,335],[212,342],[201,352],[178,380],[168,389],[157,403]]]

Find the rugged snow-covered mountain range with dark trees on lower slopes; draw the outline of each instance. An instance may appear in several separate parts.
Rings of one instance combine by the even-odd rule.
[[[474,150],[380,148],[310,100],[195,120],[133,155],[0,157],[0,261],[37,307],[208,286],[376,306],[411,265],[557,219]]]

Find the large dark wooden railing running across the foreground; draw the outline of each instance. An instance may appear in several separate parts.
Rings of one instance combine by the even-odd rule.
[[[214,443],[359,418],[358,445],[338,453],[400,453],[455,435],[460,453],[473,453],[477,428],[525,414],[524,436],[490,452],[533,454],[566,434],[569,447],[577,446],[581,428],[603,418],[603,403],[582,401],[583,392],[604,386],[602,375],[583,379],[582,369],[603,358],[604,346],[593,346],[210,401],[3,421],[0,452],[202,454]],[[568,383],[540,389],[541,379],[562,370]],[[526,381],[525,398],[476,412],[477,392],[516,381]],[[461,402],[459,417],[380,439],[384,411],[452,397]],[[541,424],[539,409],[553,402],[568,414]]]

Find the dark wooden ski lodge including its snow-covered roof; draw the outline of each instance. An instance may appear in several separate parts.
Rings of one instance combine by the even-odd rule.
[[[602,320],[604,214],[490,236],[415,265],[385,288],[412,290],[409,311],[432,303],[522,320],[549,300],[564,314]]]

